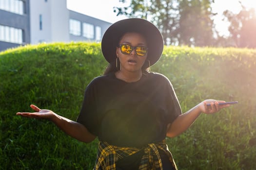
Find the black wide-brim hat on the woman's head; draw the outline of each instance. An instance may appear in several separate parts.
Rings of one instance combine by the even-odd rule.
[[[162,55],[163,37],[158,28],[151,22],[141,18],[128,18],[112,24],[101,40],[101,51],[109,63],[116,62],[116,48],[121,37],[128,32],[142,34],[147,42],[147,60],[154,65]]]

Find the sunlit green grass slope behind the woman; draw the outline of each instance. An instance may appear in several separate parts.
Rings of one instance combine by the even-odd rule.
[[[15,114],[33,103],[76,120],[86,85],[106,66],[96,43],[0,52],[0,170],[92,169],[97,140],[85,144],[51,122]],[[256,50],[165,47],[151,70],[171,80],[183,112],[208,98],[239,102],[168,138],[180,170],[255,169]]]

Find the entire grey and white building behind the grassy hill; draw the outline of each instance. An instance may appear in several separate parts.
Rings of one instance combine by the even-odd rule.
[[[0,51],[42,42],[100,42],[110,25],[68,10],[66,0],[0,0]]]

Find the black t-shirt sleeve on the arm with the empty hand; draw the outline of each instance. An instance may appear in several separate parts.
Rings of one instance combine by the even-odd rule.
[[[77,122],[83,124],[90,133],[98,136],[99,123],[96,103],[96,85],[93,80],[85,89],[82,107]]]

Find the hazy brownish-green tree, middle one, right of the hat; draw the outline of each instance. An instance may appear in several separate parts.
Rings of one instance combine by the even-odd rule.
[[[178,41],[180,45],[212,46],[214,23],[213,0],[181,0],[179,3]]]

